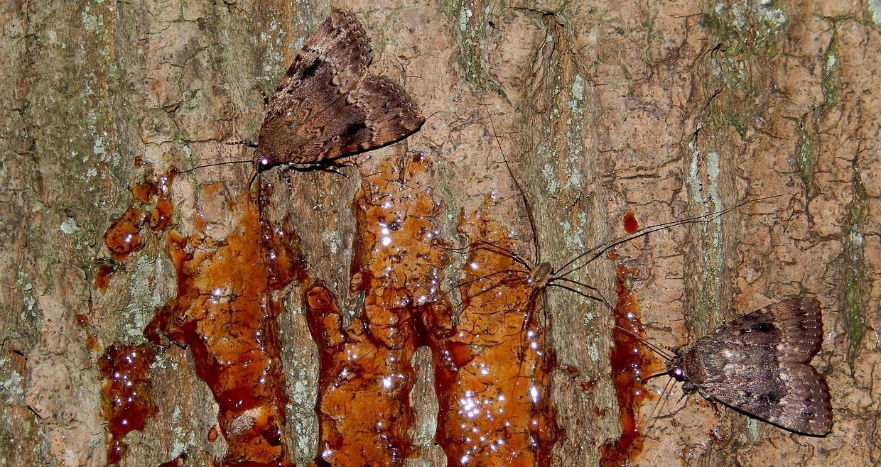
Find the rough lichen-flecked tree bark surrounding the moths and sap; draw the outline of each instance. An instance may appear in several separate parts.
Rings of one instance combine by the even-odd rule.
[[[359,303],[348,288],[361,174],[411,151],[431,162],[442,199],[434,222],[448,242],[463,244],[460,212],[486,205],[530,244],[498,135],[531,202],[541,257],[553,264],[622,233],[627,209],[648,225],[780,194],[630,245],[631,285],[649,338],[669,346],[784,296],[817,296],[825,339],[814,364],[832,390],[833,433],[789,434],[724,407],[716,413],[700,397],[677,403],[674,390],[634,463],[881,463],[877,2],[18,1],[0,6],[0,264],[8,273],[0,465],[105,462],[100,356],[114,341],[143,342],[144,325],[175,294],[174,266],[154,233],[105,292],[93,285],[99,259],[109,257],[103,234],[144,178],[135,158],[158,172],[248,158],[222,143],[255,137],[260,90],[274,90],[308,33],[343,6],[373,41],[374,72],[401,83],[427,120],[405,142],[358,157],[345,176],[263,176],[276,186],[270,215],[289,217],[308,274],[341,308]],[[194,230],[195,207],[216,202],[204,186],[245,193],[248,175],[246,165],[227,165],[179,176],[174,229]],[[453,255],[460,268],[448,271],[446,288],[462,261]],[[579,280],[614,296],[613,274],[601,259]],[[289,294],[279,321],[285,441],[305,463],[315,457],[317,362],[300,288]],[[604,376],[611,318],[559,290],[544,313],[559,367],[598,381],[584,390],[555,374],[565,434],[553,462],[595,464],[598,446],[620,429]],[[417,360],[431,363],[426,352]],[[126,438],[122,464],[223,456],[223,438],[207,439],[217,409],[189,352],[170,347],[150,376],[156,413]],[[424,424],[416,443],[428,448],[432,391],[423,381],[411,396]],[[436,449],[423,452],[422,462],[443,463]]]

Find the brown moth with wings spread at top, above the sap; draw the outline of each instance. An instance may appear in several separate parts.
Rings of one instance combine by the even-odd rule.
[[[425,120],[418,106],[388,79],[368,73],[371,60],[358,19],[346,10],[331,13],[269,99],[256,166],[333,166],[416,131]]]

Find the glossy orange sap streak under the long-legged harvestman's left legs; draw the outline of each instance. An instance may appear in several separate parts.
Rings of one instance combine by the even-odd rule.
[[[471,239],[515,246],[485,211],[461,219],[460,230]],[[544,348],[544,329],[537,319],[524,328],[524,315],[536,316],[535,289],[522,275],[481,281],[487,271],[515,266],[506,255],[473,249],[455,332],[432,343],[440,402],[435,439],[451,462],[549,465],[561,434],[550,403],[555,361]]]

